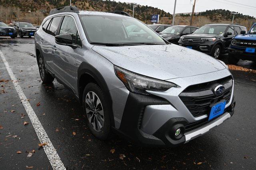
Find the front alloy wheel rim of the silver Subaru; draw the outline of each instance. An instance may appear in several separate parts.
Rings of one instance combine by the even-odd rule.
[[[100,132],[104,126],[104,111],[99,97],[93,91],[86,95],[85,110],[90,125]]]

